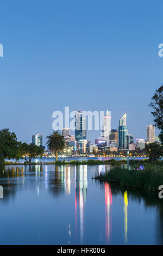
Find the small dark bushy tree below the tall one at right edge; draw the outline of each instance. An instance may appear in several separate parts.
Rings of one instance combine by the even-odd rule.
[[[146,144],[147,154],[149,156],[149,161],[154,163],[161,159],[162,156],[162,147],[159,143],[149,143]]]

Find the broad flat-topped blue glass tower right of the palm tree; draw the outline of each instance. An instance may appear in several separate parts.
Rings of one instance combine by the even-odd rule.
[[[76,141],[86,139],[86,116],[83,111],[77,111],[75,115],[75,136]]]

